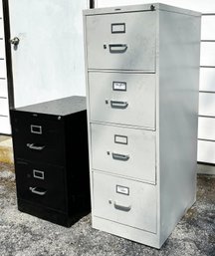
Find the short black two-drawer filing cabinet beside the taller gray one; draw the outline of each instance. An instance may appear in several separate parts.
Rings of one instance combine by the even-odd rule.
[[[64,226],[90,212],[85,97],[11,110],[18,208]]]

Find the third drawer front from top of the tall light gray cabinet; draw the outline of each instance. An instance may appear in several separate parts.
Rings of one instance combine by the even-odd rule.
[[[155,183],[155,133],[91,125],[93,168]]]

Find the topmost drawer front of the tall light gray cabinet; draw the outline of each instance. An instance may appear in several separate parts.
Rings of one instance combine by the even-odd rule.
[[[155,71],[156,12],[87,17],[89,69]]]

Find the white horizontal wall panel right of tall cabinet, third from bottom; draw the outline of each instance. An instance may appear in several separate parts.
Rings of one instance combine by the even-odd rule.
[[[215,94],[199,94],[199,115],[215,117]]]

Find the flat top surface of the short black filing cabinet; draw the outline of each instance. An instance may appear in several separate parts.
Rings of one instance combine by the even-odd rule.
[[[72,96],[41,104],[17,108],[15,111],[67,116],[77,112],[86,111],[86,97]]]

